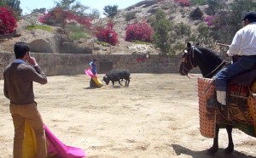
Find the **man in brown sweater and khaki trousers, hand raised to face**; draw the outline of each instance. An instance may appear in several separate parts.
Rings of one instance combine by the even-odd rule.
[[[36,134],[36,157],[45,158],[47,149],[44,123],[34,100],[33,82],[46,84],[47,76],[36,59],[29,55],[29,49],[26,42],[15,43],[16,59],[3,71],[3,93],[10,100],[9,110],[15,127],[14,158],[22,158],[25,121],[30,123]]]

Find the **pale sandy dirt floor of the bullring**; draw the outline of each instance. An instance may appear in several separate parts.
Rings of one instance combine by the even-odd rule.
[[[102,79],[103,74],[99,77]],[[200,76],[200,75],[198,75]],[[197,80],[178,74],[131,74],[130,87],[90,88],[89,76],[49,76],[34,84],[44,123],[64,144],[89,158],[253,158],[256,138],[233,130],[235,151],[224,129],[218,153],[199,131]],[[123,82],[124,83],[124,82]],[[14,129],[0,81],[0,157],[12,157]]]

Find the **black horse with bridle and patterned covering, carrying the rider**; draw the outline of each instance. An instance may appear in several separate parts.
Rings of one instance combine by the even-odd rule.
[[[225,66],[230,64],[230,62],[221,59],[212,50],[208,48],[200,48],[198,44],[192,46],[190,42],[187,42],[187,48],[184,49],[182,61],[179,67],[179,73],[182,76],[188,76],[189,71],[198,66],[204,78],[213,77],[212,81],[214,81],[214,76],[218,73],[218,71],[222,70]],[[241,93],[237,93],[238,91]],[[230,79],[228,82],[227,90],[227,107],[230,113],[230,117],[225,117],[228,118],[228,121],[222,121],[219,119],[219,121],[215,124],[215,136],[213,138],[212,147],[207,150],[208,154],[213,155],[218,151],[218,132],[220,126],[222,125],[225,126],[229,138],[228,147],[224,150],[224,152],[227,154],[230,154],[234,151],[234,143],[232,138],[233,127],[237,127],[242,132],[256,138],[256,104],[251,105],[254,107],[254,113],[250,112],[251,109],[247,104],[248,98],[256,100],[256,98],[254,99],[254,96],[256,96],[255,68],[253,68],[251,71],[243,72],[238,76],[234,76]],[[236,100],[236,104],[234,104],[234,100]],[[233,109],[231,110],[230,108]],[[239,113],[241,114],[240,116],[243,116],[242,119],[235,116],[234,108],[236,109],[236,115]],[[221,111],[221,108],[217,108],[217,111],[217,117],[224,115]],[[230,120],[230,118],[232,120]],[[250,128],[251,131],[248,132],[247,129],[243,129],[245,127],[247,127],[247,129]]]

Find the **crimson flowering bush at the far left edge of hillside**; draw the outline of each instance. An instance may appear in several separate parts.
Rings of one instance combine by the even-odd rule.
[[[6,35],[15,31],[17,27],[13,12],[4,7],[0,7],[0,34]]]

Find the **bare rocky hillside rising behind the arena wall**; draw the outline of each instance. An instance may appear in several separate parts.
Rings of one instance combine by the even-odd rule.
[[[166,12],[168,20],[172,20],[175,24],[183,22],[191,26],[195,31],[196,26],[202,20],[190,20],[189,14],[195,9],[200,9],[206,16],[207,6],[200,7],[181,7],[173,0],[145,0],[136,3],[128,8],[120,9],[114,17],[113,29],[118,33],[119,44],[117,46],[103,47],[95,43],[95,37],[86,40],[79,40],[74,43],[67,43],[65,35],[61,34],[60,28],[52,27],[53,31],[34,30],[27,31],[27,25],[40,24],[37,21],[38,15],[26,15],[22,20],[18,21],[18,28],[12,38],[1,41],[0,52],[12,52],[14,43],[17,41],[28,42],[32,52],[34,53],[67,53],[72,50],[73,54],[132,54],[132,53],[149,53],[159,54],[159,50],[153,45],[141,45],[132,42],[125,42],[125,27],[136,21],[149,21],[154,16],[157,9]],[[125,21],[125,14],[136,13],[136,17],[129,22]],[[94,20],[94,24],[106,24],[108,18]],[[61,46],[61,47],[60,47]]]

